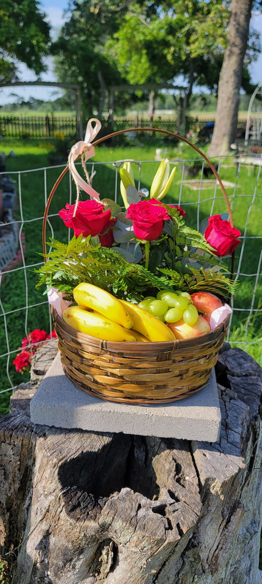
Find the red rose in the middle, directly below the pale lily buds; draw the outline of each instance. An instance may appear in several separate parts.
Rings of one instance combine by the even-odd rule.
[[[155,199],[131,203],[126,217],[133,220],[133,230],[137,239],[153,241],[158,239],[164,227],[164,221],[170,219],[162,203]]]

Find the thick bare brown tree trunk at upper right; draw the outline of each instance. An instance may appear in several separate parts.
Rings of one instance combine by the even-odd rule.
[[[208,156],[228,154],[238,127],[239,90],[249,37],[252,0],[232,0],[228,46],[218,83],[217,116]]]

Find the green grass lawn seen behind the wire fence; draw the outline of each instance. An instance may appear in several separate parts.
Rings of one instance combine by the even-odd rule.
[[[144,141],[144,145],[129,145],[126,142],[125,148],[105,146],[98,147],[95,154],[94,161],[96,163],[108,164],[95,164],[95,170],[97,174],[93,180],[93,186],[101,194],[101,198],[108,197],[114,199],[115,194],[115,177],[116,169],[112,167],[111,162],[117,161],[123,158],[133,158],[136,161],[143,161],[141,165],[141,186],[150,188],[151,180],[153,179],[154,173],[158,168],[158,162],[154,161],[155,148],[161,145],[160,140],[155,141]],[[163,148],[165,144],[163,145]],[[26,265],[30,266],[41,261],[39,252],[42,251],[41,246],[41,228],[42,220],[41,218],[37,221],[31,221],[36,217],[43,217],[45,198],[44,198],[44,167],[49,166],[48,162],[48,149],[43,141],[37,142],[33,140],[5,140],[2,142],[1,149],[8,154],[10,150],[15,150],[17,153],[16,158],[10,158],[7,162],[8,172],[16,171],[30,171],[30,169],[40,168],[36,172],[24,172],[21,176],[21,190],[22,190],[22,210],[23,218],[29,223],[24,223],[23,232],[26,236],[26,252],[24,254]],[[176,158],[176,152],[174,149],[169,147],[169,154],[173,152],[174,159]],[[221,178],[229,180],[235,183],[235,173],[236,169],[233,165],[233,159],[230,161],[225,161],[227,166],[222,166],[221,168]],[[134,178],[137,180],[139,177],[139,167],[133,165],[134,167]],[[91,164],[87,165],[88,171],[91,170]],[[46,175],[47,181],[47,194],[49,194],[52,185],[56,178],[58,178],[61,169],[51,168],[48,169]],[[18,193],[18,175],[12,175],[13,179],[16,180],[17,193]],[[180,191],[180,179],[181,179],[181,168],[177,164],[177,172],[174,183],[167,196],[167,202],[178,203],[179,202],[179,191]],[[245,166],[242,166],[240,170],[240,175],[238,179],[238,187],[236,189],[236,198],[233,203],[233,218],[236,227],[240,231],[244,232],[246,225],[247,212],[252,201],[254,187],[256,185],[256,176],[253,174],[253,170],[250,171]],[[249,237],[254,237],[261,234],[260,221],[261,221],[261,211],[262,211],[262,177],[257,184],[257,197],[254,200],[252,210],[250,211],[249,223],[247,225],[247,235]],[[226,189],[228,196],[233,195],[233,188]],[[190,190],[187,185],[183,185],[181,206],[185,208],[187,212],[187,221],[192,227],[197,227],[197,201],[200,200],[200,212],[199,212],[199,222],[204,220],[209,214],[212,205],[212,199],[214,194],[214,187],[207,190],[199,191]],[[75,187],[72,186],[72,202],[75,200]],[[65,203],[69,201],[69,177],[66,176],[61,185],[59,185],[56,190],[54,200],[52,201],[50,213],[56,214],[59,209],[65,206]],[[121,196],[119,191],[118,182],[118,202],[121,203]],[[215,204],[213,208],[213,214],[225,213],[226,207],[225,202],[222,197],[221,190],[217,190],[217,197],[215,199]],[[19,212],[17,211],[17,218],[19,218]],[[68,230],[63,225],[63,222],[59,217],[51,217],[51,224],[54,229],[55,238],[61,239],[62,241],[67,241]],[[47,237],[51,235],[51,231],[48,228]],[[236,250],[236,267],[238,266],[238,260],[240,256],[240,251],[242,244]],[[247,239],[245,244],[245,250],[243,253],[241,272],[245,274],[256,274],[257,266],[259,262],[259,254],[261,248],[260,239]],[[27,276],[27,286],[28,286],[28,304],[34,305],[41,303],[46,300],[46,296],[42,297],[42,291],[36,291],[36,274],[33,273],[33,267],[29,267],[26,270]],[[253,288],[256,280],[256,276],[246,277],[240,276],[241,286],[239,287],[238,293],[236,294],[234,300],[234,306],[236,308],[249,309],[252,302]],[[257,286],[256,297],[254,298],[254,308],[259,305],[259,299],[262,298],[262,279],[260,277]],[[16,349],[20,346],[21,339],[25,336],[24,329],[24,319],[26,316],[26,284],[24,280],[23,270],[17,270],[7,274],[5,281],[1,284],[1,301],[5,312],[13,311],[18,308],[23,310],[17,311],[14,314],[8,314],[6,316],[6,324],[8,327],[8,340],[9,340],[9,350],[14,351],[10,358],[9,363],[9,374],[12,379],[12,383],[19,384],[21,381],[27,381],[27,374],[22,377],[19,373],[16,373],[15,367],[12,364],[12,360],[16,356]],[[239,340],[245,340],[245,331],[240,328],[240,321],[245,320],[248,316],[248,310],[246,312],[235,312],[232,322],[232,339],[234,342]],[[261,314],[261,313],[258,313]],[[47,305],[43,304],[38,307],[29,308],[27,317],[27,332],[34,328],[43,328],[49,331],[49,315]],[[243,328],[243,326],[242,326]],[[254,340],[262,337],[262,331],[259,331],[259,318],[257,317],[254,322],[251,323],[248,332],[247,340]],[[262,340],[262,339],[261,339]],[[243,348],[243,345],[239,345]],[[5,339],[5,328],[3,326],[3,317],[0,316],[0,353],[8,352],[8,347],[6,345]],[[261,345],[250,344],[246,346],[246,350],[250,352],[257,360],[260,358]],[[1,365],[1,385],[0,390],[5,390],[10,387],[10,383],[5,374],[6,369],[6,357],[0,359]],[[9,395],[0,394],[0,413],[8,411]]]

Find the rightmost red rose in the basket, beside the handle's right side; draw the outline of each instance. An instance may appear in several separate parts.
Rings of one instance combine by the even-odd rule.
[[[230,255],[235,251],[240,240],[237,239],[241,232],[235,227],[231,227],[229,221],[221,219],[220,215],[212,215],[208,219],[208,227],[204,232],[207,243],[215,249],[215,255]]]

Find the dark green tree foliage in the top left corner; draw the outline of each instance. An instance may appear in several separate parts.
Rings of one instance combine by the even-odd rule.
[[[17,61],[37,75],[47,68],[50,26],[37,0],[1,0],[0,5],[0,82],[17,81]]]

